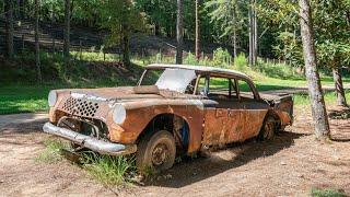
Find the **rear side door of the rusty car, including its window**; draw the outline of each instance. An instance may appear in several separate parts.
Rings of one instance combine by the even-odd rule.
[[[257,91],[253,91],[253,83],[238,80],[238,96],[243,107],[241,120],[243,124],[241,141],[259,134],[269,105],[259,99]]]

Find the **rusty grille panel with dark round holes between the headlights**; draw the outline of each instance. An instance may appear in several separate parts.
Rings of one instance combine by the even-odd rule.
[[[62,105],[62,109],[71,115],[94,117],[98,109],[98,103],[69,97]]]

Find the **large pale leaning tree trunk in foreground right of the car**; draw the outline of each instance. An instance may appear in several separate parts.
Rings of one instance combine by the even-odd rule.
[[[308,0],[299,0],[299,5],[301,36],[303,42],[308,94],[311,96],[312,115],[315,124],[315,135],[317,139],[325,140],[329,138],[330,130],[316,65],[312,11]]]

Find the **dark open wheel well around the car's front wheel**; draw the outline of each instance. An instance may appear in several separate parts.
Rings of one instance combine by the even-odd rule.
[[[143,131],[139,135],[137,143],[147,135],[152,135],[160,130],[167,130],[175,138],[176,149],[184,153],[189,144],[189,125],[185,118],[175,114],[160,114],[152,118]]]

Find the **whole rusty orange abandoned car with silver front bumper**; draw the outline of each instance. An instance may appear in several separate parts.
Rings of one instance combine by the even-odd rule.
[[[176,154],[270,139],[293,116],[290,95],[260,95],[242,72],[183,65],[147,66],[136,86],[52,90],[48,103],[45,132],[159,171]]]

